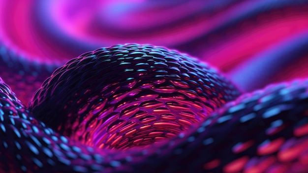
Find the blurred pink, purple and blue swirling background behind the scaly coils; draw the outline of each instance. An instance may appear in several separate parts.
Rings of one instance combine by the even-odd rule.
[[[187,53],[248,92],[308,77],[308,0],[0,1],[0,77],[24,104],[68,60],[120,43]]]

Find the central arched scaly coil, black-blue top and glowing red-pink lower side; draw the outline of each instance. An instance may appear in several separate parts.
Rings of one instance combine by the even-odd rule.
[[[89,146],[127,149],[175,137],[239,95],[215,69],[185,54],[125,44],[55,70],[29,110]]]

